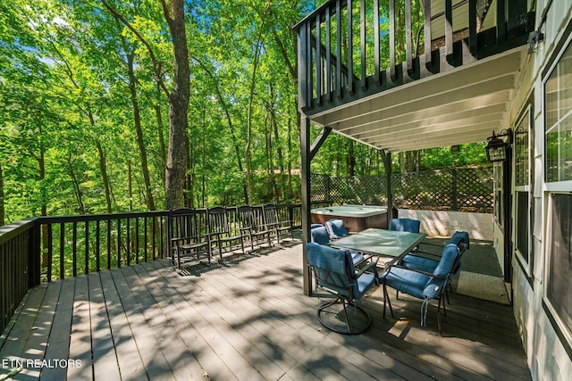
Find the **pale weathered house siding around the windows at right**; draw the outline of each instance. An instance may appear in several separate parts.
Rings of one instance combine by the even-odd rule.
[[[523,344],[527,353],[528,365],[535,380],[571,380],[572,360],[543,310],[544,279],[546,277],[547,252],[546,240],[546,186],[544,185],[543,147],[543,78],[544,68],[560,39],[568,39],[565,29],[571,20],[572,0],[538,1],[536,8],[536,26],[539,25],[543,11],[548,4],[551,9],[542,31],[545,36],[543,49],[530,55],[523,67],[517,83],[511,109],[509,125],[514,127],[517,116],[526,106],[526,101],[534,94],[534,270],[523,270],[517,259],[513,259],[513,301],[515,317]],[[565,46],[566,47],[566,46]],[[570,189],[572,191],[572,189]],[[514,203],[513,203],[514,204]],[[514,216],[514,214],[513,214]],[[496,239],[496,237],[495,237]],[[513,237],[514,240],[514,237]],[[533,277],[530,277],[532,275]],[[534,279],[534,280],[531,280]],[[572,292],[572,290],[571,290]]]

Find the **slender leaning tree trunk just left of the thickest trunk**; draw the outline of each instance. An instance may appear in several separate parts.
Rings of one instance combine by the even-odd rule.
[[[149,167],[147,165],[147,149],[143,141],[143,128],[141,128],[141,112],[139,109],[139,100],[137,99],[137,88],[135,87],[135,73],[133,71],[133,54],[127,51],[127,47],[123,45],[123,50],[127,56],[127,72],[129,75],[129,91],[131,95],[131,104],[133,105],[133,121],[135,123],[135,131],[137,133],[137,143],[139,145],[139,158],[141,160],[141,171],[143,172],[143,181],[145,182],[145,202],[149,211],[155,211],[155,201],[153,192],[151,191],[151,178],[149,176]]]

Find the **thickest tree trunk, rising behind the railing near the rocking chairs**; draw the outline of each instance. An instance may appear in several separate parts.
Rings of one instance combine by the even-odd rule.
[[[174,83],[169,96],[169,153],[165,169],[165,207],[180,208],[184,204],[184,188],[189,162],[187,110],[189,108],[189,50],[185,35],[184,0],[171,0],[171,15],[164,4],[169,23],[174,55]]]

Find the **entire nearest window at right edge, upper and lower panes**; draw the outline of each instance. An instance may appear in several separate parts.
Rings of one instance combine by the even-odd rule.
[[[571,24],[572,25],[572,24]],[[544,82],[546,176],[546,282],[543,302],[553,327],[572,344],[572,45]],[[568,348],[570,348],[568,346]],[[572,351],[572,349],[570,350]]]

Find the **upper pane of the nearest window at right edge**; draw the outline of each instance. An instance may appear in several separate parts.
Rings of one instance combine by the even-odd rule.
[[[572,46],[546,81],[546,181],[572,180]]]

